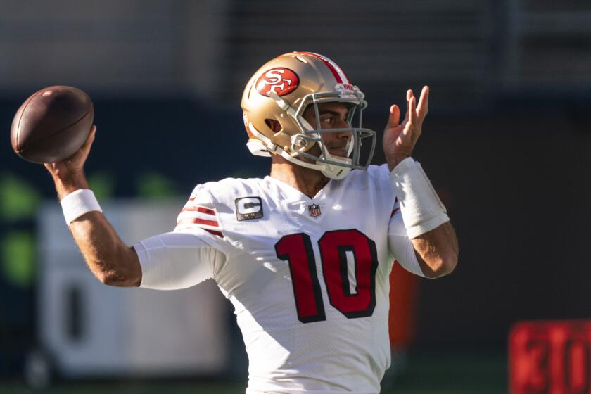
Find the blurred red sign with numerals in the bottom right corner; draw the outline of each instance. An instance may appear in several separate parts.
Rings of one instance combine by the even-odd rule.
[[[509,333],[511,394],[591,394],[591,321],[521,322]]]

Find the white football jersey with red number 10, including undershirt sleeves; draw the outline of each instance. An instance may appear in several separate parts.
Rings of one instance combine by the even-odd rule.
[[[393,260],[422,275],[387,165],[314,198],[272,177],[199,185],[173,233],[135,248],[143,287],[217,282],[248,352],[247,393],[379,393]]]

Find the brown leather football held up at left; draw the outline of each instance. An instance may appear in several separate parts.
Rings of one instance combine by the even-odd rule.
[[[32,94],[14,116],[11,144],[21,158],[54,163],[70,157],[86,141],[94,106],[75,87],[46,87]]]

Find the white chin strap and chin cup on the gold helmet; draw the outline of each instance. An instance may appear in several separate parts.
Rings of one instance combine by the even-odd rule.
[[[275,153],[277,155],[281,155],[282,158],[284,158],[285,160],[288,160],[288,162],[290,162],[290,163],[293,163],[296,165],[301,165],[302,167],[306,167],[306,168],[311,168],[312,170],[318,170],[318,171],[322,172],[322,174],[324,174],[325,177],[330,178],[330,179],[343,179],[344,177],[347,176],[347,174],[351,170],[348,167],[341,167],[340,165],[331,165],[331,164],[326,164],[326,163],[322,163],[319,161],[317,161],[316,163],[307,163],[307,162],[300,160],[298,158],[294,158],[292,155],[290,155],[289,153],[284,151],[282,148],[280,148],[279,146],[274,144],[273,141],[268,139],[265,135],[258,132],[258,130],[250,122],[248,123],[248,129],[253,134],[253,136],[257,137],[258,139],[260,139],[260,141],[262,141],[262,142],[260,142],[260,141],[252,140],[252,141],[248,141],[248,143],[246,143],[246,146],[248,146],[250,153],[253,153],[253,155],[270,156],[270,153]],[[350,152],[352,151],[352,148],[353,148],[352,145],[353,144],[351,141],[350,146],[348,148],[348,154],[350,154]],[[337,157],[331,156],[330,153],[328,153],[328,152],[326,152],[326,158],[329,160],[336,161],[336,162],[342,162],[343,164],[350,164],[350,160],[351,160],[349,158],[337,158]]]

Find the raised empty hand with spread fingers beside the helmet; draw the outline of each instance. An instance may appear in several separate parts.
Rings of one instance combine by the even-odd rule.
[[[423,120],[428,112],[429,87],[423,87],[419,105],[412,90],[407,91],[407,113],[400,123],[400,108],[396,104],[390,107],[388,124],[383,130],[383,153],[390,171],[405,158],[412,155],[423,128]]]

